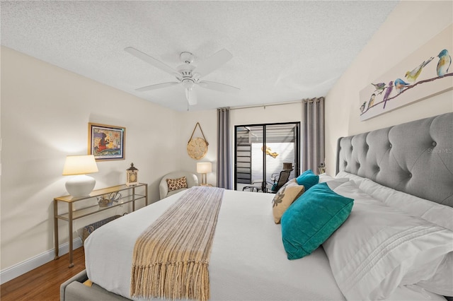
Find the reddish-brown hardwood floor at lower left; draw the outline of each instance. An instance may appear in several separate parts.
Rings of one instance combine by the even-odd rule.
[[[0,285],[1,301],[59,300],[59,285],[85,268],[84,247],[74,250],[74,267],[68,266],[69,255],[64,254],[57,260]]]

